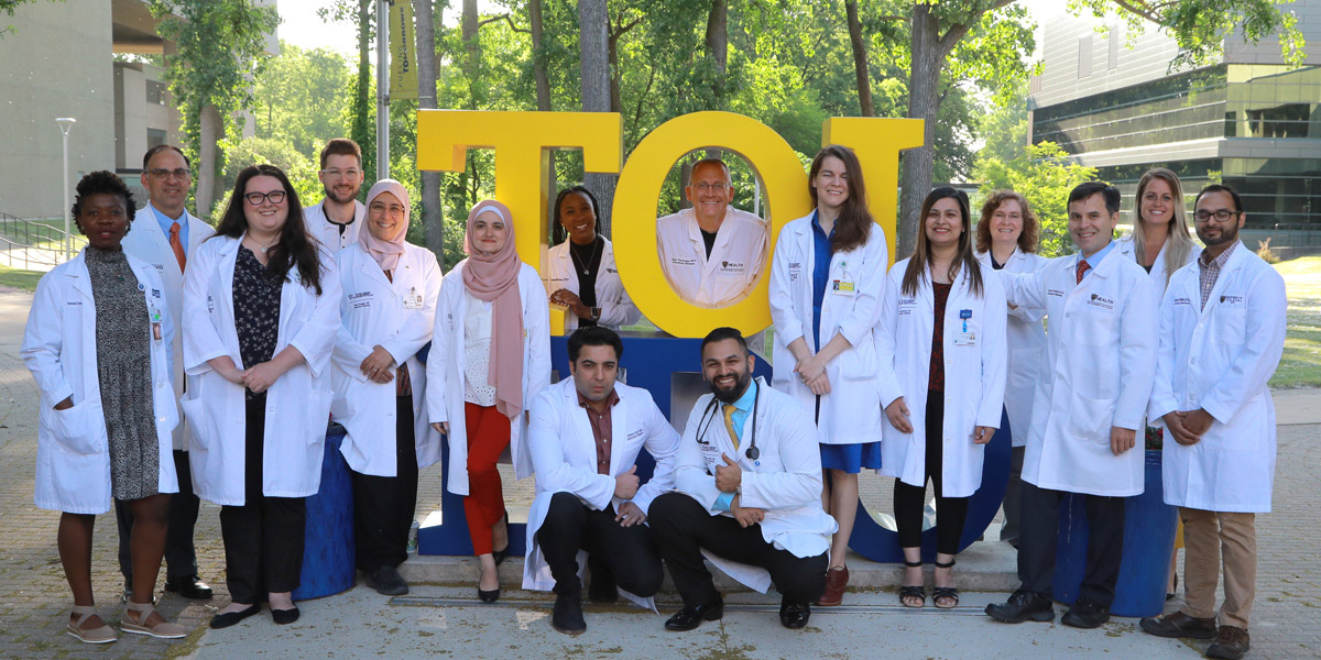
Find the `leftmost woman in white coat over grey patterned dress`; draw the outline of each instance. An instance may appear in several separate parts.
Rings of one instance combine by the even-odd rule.
[[[119,177],[83,177],[73,215],[87,247],[41,277],[20,351],[41,391],[36,503],[62,512],[59,561],[74,595],[66,630],[90,644],[116,639],[91,589],[92,525],[114,499],[133,512],[132,595],[120,628],[182,638],[188,630],[152,607],[169,494],[178,490],[169,305],[156,269],[120,244],[133,195]]]

